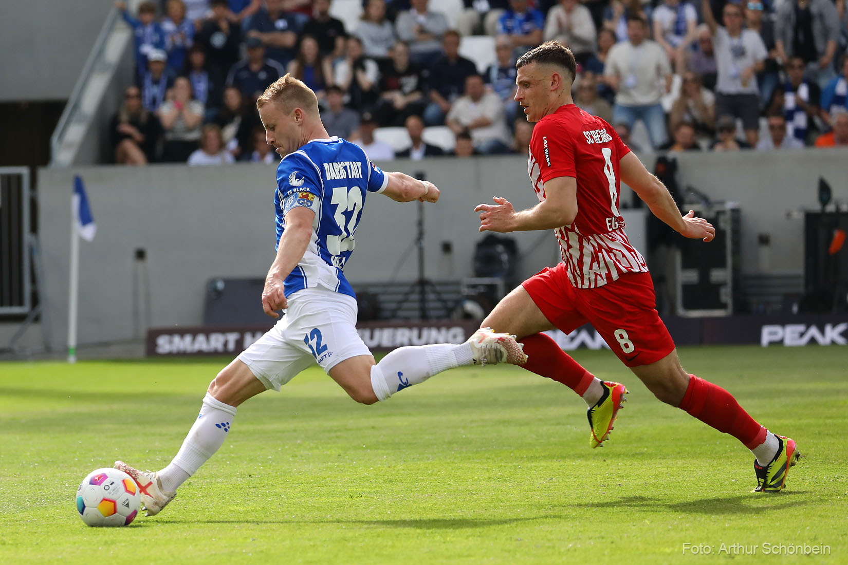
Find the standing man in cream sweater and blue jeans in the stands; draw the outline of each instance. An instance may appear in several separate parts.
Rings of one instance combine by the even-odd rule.
[[[705,2],[707,0],[704,0]],[[633,128],[637,119],[644,122],[653,147],[668,139],[666,113],[660,104],[662,95],[671,89],[672,69],[666,53],[656,43],[644,38],[644,20],[628,17],[628,41],[616,43],[606,58],[606,84],[616,91],[612,119]],[[663,91],[660,82],[665,82]]]

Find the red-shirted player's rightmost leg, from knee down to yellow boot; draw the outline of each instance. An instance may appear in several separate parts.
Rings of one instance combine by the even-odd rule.
[[[757,491],[784,488],[789,468],[801,457],[795,440],[774,435],[745,412],[734,396],[718,385],[689,374],[675,349],[656,363],[632,367],[648,390],[662,402],[679,407],[704,424],[733,435],[756,457]]]

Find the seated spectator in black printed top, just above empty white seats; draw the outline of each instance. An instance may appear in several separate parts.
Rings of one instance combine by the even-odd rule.
[[[393,47],[392,58],[380,75],[380,103],[377,117],[380,125],[403,125],[412,115],[424,112],[424,76],[410,62],[410,48],[404,42]]]

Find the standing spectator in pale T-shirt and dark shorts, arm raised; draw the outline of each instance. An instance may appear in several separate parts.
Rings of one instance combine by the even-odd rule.
[[[724,5],[722,26],[712,17],[710,0],[701,1],[701,12],[710,28],[716,53],[716,116],[741,119],[745,141],[753,147],[760,129],[760,89],[756,84],[756,74],[765,68],[768,57],[766,46],[760,34],[742,28],[742,8],[739,5]]]

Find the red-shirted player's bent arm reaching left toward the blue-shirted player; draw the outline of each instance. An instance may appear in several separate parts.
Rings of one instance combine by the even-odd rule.
[[[577,218],[577,179],[558,176],[544,183],[544,202],[516,212],[506,198],[494,197],[494,206],[479,204],[479,231],[553,230],[570,225]]]

